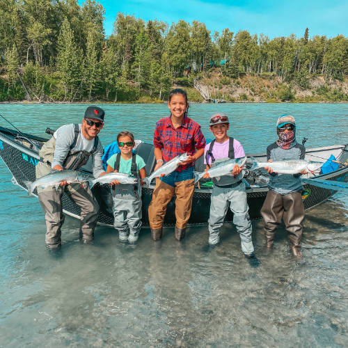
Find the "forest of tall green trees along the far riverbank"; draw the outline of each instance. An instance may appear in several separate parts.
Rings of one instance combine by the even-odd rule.
[[[230,79],[268,73],[303,89],[310,77],[348,74],[344,35],[306,29],[269,39],[118,13],[108,37],[104,15],[95,0],[0,0],[0,100],[163,100],[173,83],[189,86],[212,70]]]

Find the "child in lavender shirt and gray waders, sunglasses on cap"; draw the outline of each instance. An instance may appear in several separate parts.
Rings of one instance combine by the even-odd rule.
[[[215,139],[205,146],[206,171],[219,161],[232,158],[245,157],[242,145],[236,139],[228,136],[230,122],[224,113],[214,113],[210,117],[209,129]],[[254,247],[251,239],[251,221],[246,203],[246,189],[242,182],[242,168],[237,164],[233,168],[232,175],[223,175],[220,180],[212,179],[214,187],[209,214],[209,245],[215,245],[220,240],[220,228],[225,219],[228,206],[233,213],[235,224],[242,244],[242,251],[247,258],[255,258]],[[206,173],[205,178],[209,177]]]

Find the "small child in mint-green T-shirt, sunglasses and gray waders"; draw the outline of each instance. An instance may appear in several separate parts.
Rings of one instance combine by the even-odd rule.
[[[120,184],[117,180],[113,194],[113,225],[118,230],[120,241],[134,243],[139,238],[141,228],[141,183],[140,179],[146,176],[145,162],[132,154],[134,136],[130,132],[120,132],[117,136],[120,153],[112,155],[107,163],[107,173],[118,171],[138,177],[138,184]]]

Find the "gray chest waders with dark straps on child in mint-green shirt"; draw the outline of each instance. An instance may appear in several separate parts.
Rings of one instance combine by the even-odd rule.
[[[121,154],[116,156],[113,169],[119,171]],[[121,241],[131,243],[139,238],[141,229],[141,184],[136,168],[136,155],[132,155],[131,174],[138,178],[136,184],[118,184],[113,189],[113,226]]]

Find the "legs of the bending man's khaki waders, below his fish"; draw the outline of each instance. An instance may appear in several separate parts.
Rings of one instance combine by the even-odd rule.
[[[84,184],[69,184],[64,188],[47,187],[38,189],[38,198],[45,212],[46,244],[61,244],[61,226],[64,222],[62,196],[63,190],[81,207],[80,237],[84,240],[94,238],[94,229],[97,223],[99,205],[95,200],[88,182]]]

